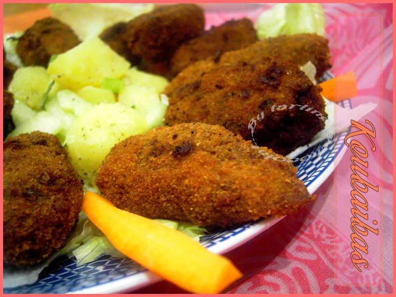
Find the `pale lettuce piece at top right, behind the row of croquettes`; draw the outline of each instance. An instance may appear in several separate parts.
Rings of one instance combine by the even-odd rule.
[[[325,15],[320,3],[279,3],[264,11],[255,23],[260,40],[282,34],[325,35]]]

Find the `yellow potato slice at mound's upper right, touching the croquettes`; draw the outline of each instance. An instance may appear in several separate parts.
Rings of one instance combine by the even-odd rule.
[[[132,67],[125,72],[123,80],[126,85],[134,85],[141,87],[152,87],[159,94],[169,84],[166,78],[138,70]]]

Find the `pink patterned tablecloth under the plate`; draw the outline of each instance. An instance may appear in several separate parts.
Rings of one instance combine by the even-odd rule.
[[[377,108],[368,119],[376,129],[373,151],[367,137],[357,136],[368,150],[368,176],[379,192],[369,189],[367,225],[378,228],[364,239],[368,266],[352,264],[350,184],[351,151],[348,149],[328,180],[317,190],[317,199],[226,254],[244,273],[243,279],[224,293],[392,293],[393,291],[393,175],[392,4],[323,4],[326,34],[333,56],[334,74],[355,71],[358,96],[352,106],[365,102]],[[245,11],[255,19],[265,9]],[[208,12],[207,24],[218,25],[238,12]],[[354,129],[353,131],[356,131]],[[378,224],[374,225],[373,220]],[[363,230],[364,231],[364,230]],[[365,245],[360,242],[360,245]],[[184,293],[165,281],[134,293]]]

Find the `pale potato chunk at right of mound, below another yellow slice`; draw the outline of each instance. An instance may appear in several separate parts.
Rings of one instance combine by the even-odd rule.
[[[151,87],[126,86],[121,89],[118,102],[139,111],[146,118],[148,129],[162,124],[167,108]]]

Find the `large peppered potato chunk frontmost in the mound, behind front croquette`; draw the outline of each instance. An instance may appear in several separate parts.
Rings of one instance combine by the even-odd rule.
[[[100,103],[72,123],[65,143],[77,173],[94,185],[96,171],[110,149],[146,131],[146,120],[136,110],[118,103]]]

